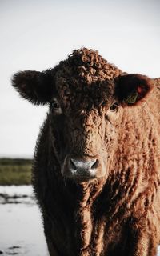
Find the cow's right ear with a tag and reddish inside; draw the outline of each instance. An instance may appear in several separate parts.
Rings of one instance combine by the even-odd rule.
[[[154,81],[142,74],[125,74],[117,78],[116,84],[122,106],[134,106],[146,99]]]

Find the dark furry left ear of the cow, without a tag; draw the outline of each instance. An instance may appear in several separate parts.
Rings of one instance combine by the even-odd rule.
[[[26,70],[14,74],[12,86],[18,90],[22,98],[37,105],[44,105],[53,98],[53,80],[51,70],[43,72]]]

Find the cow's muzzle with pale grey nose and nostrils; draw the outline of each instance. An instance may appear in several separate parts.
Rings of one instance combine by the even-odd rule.
[[[96,157],[74,157],[67,155],[62,166],[62,175],[66,178],[89,180],[105,175],[102,159]]]

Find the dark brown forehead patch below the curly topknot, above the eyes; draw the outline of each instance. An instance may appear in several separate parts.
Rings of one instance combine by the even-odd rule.
[[[93,82],[88,86],[85,82],[61,78],[57,80],[57,88],[58,98],[67,109],[90,109],[110,103],[114,96],[114,80]]]

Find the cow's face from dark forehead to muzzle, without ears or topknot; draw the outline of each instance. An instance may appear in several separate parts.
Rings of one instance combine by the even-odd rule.
[[[120,114],[114,80],[87,85],[61,77],[55,86],[58,90],[50,102],[50,127],[62,175],[103,177]]]

